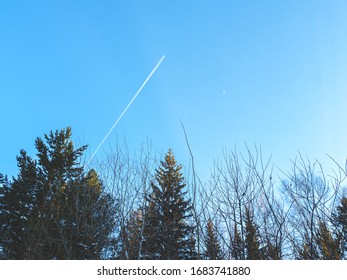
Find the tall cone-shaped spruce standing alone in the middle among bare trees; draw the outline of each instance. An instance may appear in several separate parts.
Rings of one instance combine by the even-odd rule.
[[[171,149],[156,170],[152,193],[148,197],[143,242],[143,258],[191,259],[196,254],[194,227],[189,225],[190,200],[185,199],[186,184]]]

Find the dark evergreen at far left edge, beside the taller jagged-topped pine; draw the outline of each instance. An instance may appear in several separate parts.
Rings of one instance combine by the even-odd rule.
[[[25,151],[17,157],[19,174],[3,187],[1,203],[1,245],[7,259],[27,259],[34,248],[39,250],[32,223],[36,214],[36,200],[41,183],[38,180],[36,162]],[[31,231],[28,229],[32,228]]]

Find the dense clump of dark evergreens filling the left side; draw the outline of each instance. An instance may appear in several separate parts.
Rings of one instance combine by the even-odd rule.
[[[21,151],[3,195],[1,246],[7,259],[98,259],[110,246],[114,201],[94,170],[84,174],[71,129],[37,138],[38,160]]]

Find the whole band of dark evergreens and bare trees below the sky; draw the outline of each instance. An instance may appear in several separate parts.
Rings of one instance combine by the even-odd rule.
[[[346,170],[301,155],[275,179],[261,150],[225,151],[201,182],[171,149],[113,147],[84,166],[71,128],[0,174],[0,259],[346,259]],[[184,176],[186,173],[186,176]]]

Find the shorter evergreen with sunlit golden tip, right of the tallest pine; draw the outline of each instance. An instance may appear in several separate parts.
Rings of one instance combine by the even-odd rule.
[[[53,242],[59,248],[57,258],[103,258],[103,250],[112,244],[110,235],[115,222],[113,199],[103,191],[93,169],[75,183],[68,185],[57,196],[61,207],[52,205],[52,211],[57,215],[52,227],[60,232]]]

